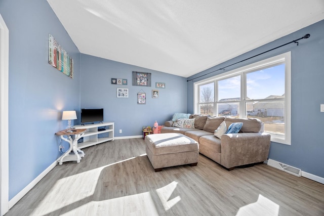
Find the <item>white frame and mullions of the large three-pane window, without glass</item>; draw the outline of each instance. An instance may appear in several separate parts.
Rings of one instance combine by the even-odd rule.
[[[218,113],[218,81],[222,79],[231,78],[237,75],[240,75],[240,100],[239,102],[239,117],[246,118],[246,103],[253,101],[263,101],[266,99],[259,100],[247,100],[247,74],[251,72],[255,72],[258,70],[262,70],[269,67],[274,67],[280,64],[285,64],[285,135],[278,135],[271,133],[271,141],[286,145],[291,145],[291,52],[287,52],[284,54],[276,55],[255,63],[251,63],[246,66],[239,67],[234,70],[230,70],[228,72],[224,72],[222,74],[218,74],[216,76],[212,76],[210,78],[206,78],[203,80],[199,80],[193,83],[193,91],[194,91],[194,113],[199,112],[199,87],[200,85],[208,84],[210,82],[214,82],[214,113]],[[275,100],[271,100],[275,101]]]

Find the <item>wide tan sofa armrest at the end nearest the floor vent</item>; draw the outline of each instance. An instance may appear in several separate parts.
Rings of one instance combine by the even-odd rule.
[[[221,138],[221,165],[226,168],[258,163],[268,158],[270,134],[225,134]]]

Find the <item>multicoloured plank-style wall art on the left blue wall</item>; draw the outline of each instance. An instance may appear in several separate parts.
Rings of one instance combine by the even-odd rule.
[[[73,59],[49,34],[49,63],[65,75],[73,78]]]

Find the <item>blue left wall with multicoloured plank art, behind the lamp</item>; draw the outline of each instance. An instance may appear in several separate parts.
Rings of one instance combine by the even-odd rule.
[[[9,199],[59,156],[62,110],[79,109],[80,54],[43,0],[2,0],[9,29]],[[48,63],[48,34],[74,60],[74,78]]]

